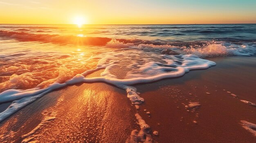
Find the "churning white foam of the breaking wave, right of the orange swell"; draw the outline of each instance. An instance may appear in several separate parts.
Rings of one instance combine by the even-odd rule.
[[[112,40],[108,43],[112,47],[121,48],[138,48],[143,51],[159,52],[163,54],[173,55],[178,54],[192,54],[199,57],[212,57],[212,56],[227,56],[227,55],[239,55],[239,56],[251,56],[256,54],[256,44],[231,44],[227,42],[208,42],[203,46],[173,46],[171,44],[154,45],[154,44],[138,44],[135,46],[132,43],[122,43],[117,40]],[[107,44],[107,45],[108,45]]]

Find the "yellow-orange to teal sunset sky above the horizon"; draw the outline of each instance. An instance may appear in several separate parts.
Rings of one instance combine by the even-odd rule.
[[[0,0],[1,24],[256,23],[256,0]]]

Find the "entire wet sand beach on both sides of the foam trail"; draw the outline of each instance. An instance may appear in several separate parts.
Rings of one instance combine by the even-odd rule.
[[[135,85],[145,99],[139,110],[124,90],[105,83],[56,90],[0,123],[0,142],[123,143],[139,129],[139,112],[152,131],[159,132],[153,137],[159,143],[253,143],[256,136],[240,121],[256,124],[256,107],[240,100],[256,103],[256,57],[209,60],[217,66]],[[188,109],[189,102],[201,106]],[[7,105],[0,105],[0,110]]]

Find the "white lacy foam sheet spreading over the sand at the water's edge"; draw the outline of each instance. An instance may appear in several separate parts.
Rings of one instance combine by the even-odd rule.
[[[144,99],[139,97],[136,88],[131,85],[180,77],[189,70],[206,69],[216,65],[215,62],[200,59],[196,55],[161,55],[129,48],[103,53],[97,58],[101,58],[97,68],[86,70],[63,84],[54,83],[46,88],[28,90],[11,89],[0,93],[0,103],[13,101],[6,110],[0,113],[0,121],[52,90],[81,82],[112,84],[126,90],[127,97],[132,103],[140,104]],[[119,72],[120,68],[121,72]],[[102,69],[105,70],[101,73],[101,77],[85,78],[86,75]]]

